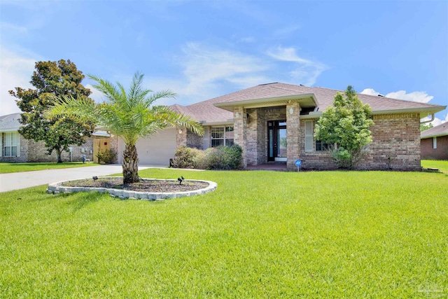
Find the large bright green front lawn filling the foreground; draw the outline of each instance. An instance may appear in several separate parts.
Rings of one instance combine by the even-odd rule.
[[[446,174],[139,174],[218,189],[162,202],[1,193],[0,298],[448,295]]]

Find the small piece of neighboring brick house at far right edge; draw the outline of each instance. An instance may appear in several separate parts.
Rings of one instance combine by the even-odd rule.
[[[422,159],[448,160],[448,123],[423,131],[420,137]]]

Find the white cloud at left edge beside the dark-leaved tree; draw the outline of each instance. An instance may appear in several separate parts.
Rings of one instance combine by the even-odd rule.
[[[0,115],[20,112],[15,104],[15,97],[9,95],[8,90],[16,87],[31,88],[31,75],[34,71],[35,58],[21,55],[4,47],[0,48]]]

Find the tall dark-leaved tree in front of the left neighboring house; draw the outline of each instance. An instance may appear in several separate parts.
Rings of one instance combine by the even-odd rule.
[[[90,90],[81,84],[84,75],[70,60],[36,62],[35,69],[30,81],[35,89],[18,87],[9,91],[10,95],[18,98],[16,102],[23,112],[19,133],[27,139],[44,141],[48,155],[55,151],[57,162],[61,163],[62,151],[69,151],[71,145],[83,144],[85,137],[90,137],[93,132],[94,124],[71,117],[49,120],[43,116],[43,111],[61,96],[83,97],[92,103],[88,98]]]

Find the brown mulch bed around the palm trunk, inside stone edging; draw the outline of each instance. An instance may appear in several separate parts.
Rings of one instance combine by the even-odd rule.
[[[68,181],[62,184],[67,187],[96,187],[96,188],[115,188],[141,192],[151,193],[174,193],[193,191],[209,186],[208,183],[202,183],[197,181],[183,181],[182,185],[179,181],[155,181],[145,180],[139,183],[130,183],[123,185],[123,178],[98,178],[96,181],[93,179],[82,179],[78,181]]]

